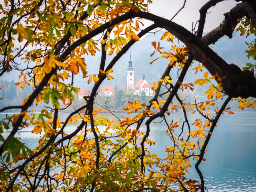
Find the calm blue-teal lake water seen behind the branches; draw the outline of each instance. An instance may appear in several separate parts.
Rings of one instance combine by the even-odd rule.
[[[60,114],[62,118],[68,114]],[[128,114],[117,114],[127,116]],[[110,115],[104,116],[114,118]],[[172,113],[173,120],[182,118],[182,113]],[[5,118],[5,114],[0,114]],[[60,117],[61,118],[61,117]],[[196,114],[188,114],[190,123]],[[72,132],[76,126],[70,125],[66,129]],[[145,127],[141,127],[145,129]],[[170,146],[172,141],[166,136],[164,123],[154,123],[150,128],[149,138],[155,145],[148,146],[151,153],[157,153],[160,158],[165,158],[165,146]],[[31,133],[32,127],[20,132],[21,140],[35,147],[40,135]],[[142,130],[143,131],[143,130]],[[6,137],[9,133],[4,132]],[[252,191],[256,192],[256,112],[235,112],[233,115],[224,114],[219,119],[217,127],[209,141],[205,162],[200,164],[208,191]],[[195,162],[194,162],[195,163]],[[194,164],[193,163],[193,164]],[[190,177],[199,180],[195,167],[189,169]]]

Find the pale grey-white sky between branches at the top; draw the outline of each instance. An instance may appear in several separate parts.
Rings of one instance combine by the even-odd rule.
[[[185,8],[178,13],[173,19],[179,25],[188,30],[192,29],[192,21],[194,24],[200,18],[199,9],[208,1],[206,0],[186,0]],[[153,0],[149,5],[150,13],[157,16],[171,19],[176,12],[182,7],[184,0]],[[205,22],[204,32],[209,32],[217,27],[223,20],[223,14],[228,12],[237,4],[234,0],[228,0],[218,3],[215,7],[209,9]]]

